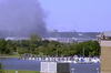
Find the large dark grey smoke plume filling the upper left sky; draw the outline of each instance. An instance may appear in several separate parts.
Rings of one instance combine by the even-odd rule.
[[[30,36],[47,33],[47,13],[38,0],[0,0],[0,30],[8,36]]]

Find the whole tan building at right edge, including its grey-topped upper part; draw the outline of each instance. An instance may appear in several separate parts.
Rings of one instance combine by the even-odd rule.
[[[111,31],[97,35],[101,45],[101,73],[111,73]]]

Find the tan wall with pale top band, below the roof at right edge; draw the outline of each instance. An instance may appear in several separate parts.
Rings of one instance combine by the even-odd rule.
[[[101,73],[111,73],[111,40],[101,40]]]

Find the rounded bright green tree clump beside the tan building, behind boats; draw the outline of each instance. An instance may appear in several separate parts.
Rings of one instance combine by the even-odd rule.
[[[98,41],[87,41],[82,43],[77,43],[73,45],[75,54],[82,55],[84,48],[84,55],[88,56],[89,52],[91,55],[100,55],[100,44]]]

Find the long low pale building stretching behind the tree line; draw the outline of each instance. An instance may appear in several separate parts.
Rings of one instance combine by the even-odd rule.
[[[18,40],[30,40],[30,38],[6,38],[7,40],[13,40],[13,41],[18,41]],[[77,38],[42,38],[42,40],[49,40],[49,41],[58,41],[58,42],[64,42],[64,43],[72,43],[72,42],[84,42],[84,41],[95,41],[97,39],[77,39]]]

